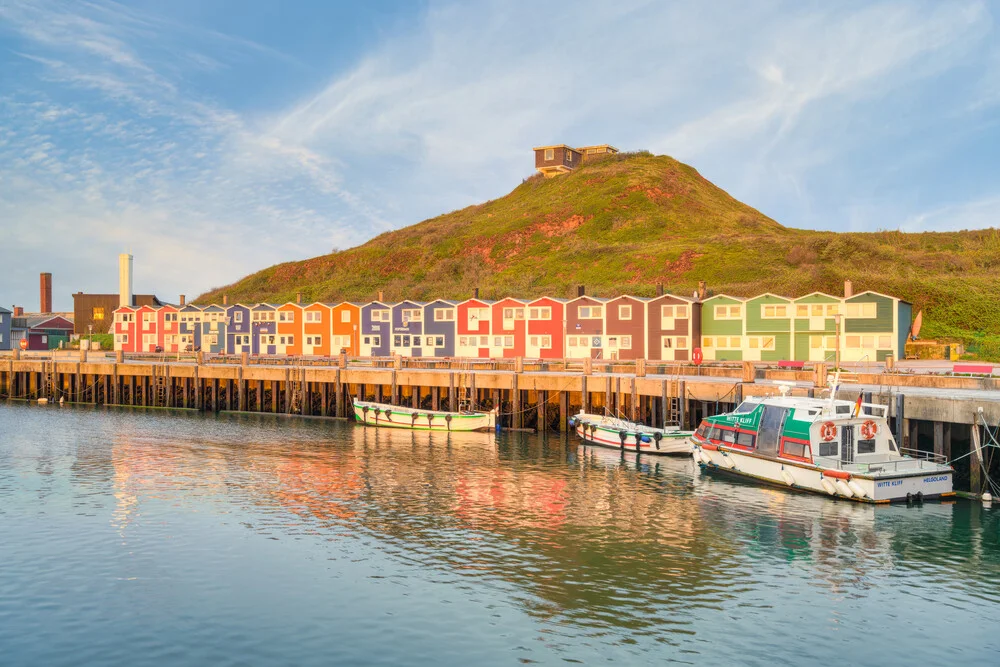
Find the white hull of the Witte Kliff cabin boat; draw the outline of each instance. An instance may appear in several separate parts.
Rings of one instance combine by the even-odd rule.
[[[737,475],[799,491],[866,503],[933,500],[954,495],[953,472],[950,469],[915,470],[876,477],[775,460],[725,447],[692,444],[692,456],[703,470]]]

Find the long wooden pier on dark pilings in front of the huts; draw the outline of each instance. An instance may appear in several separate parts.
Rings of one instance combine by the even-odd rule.
[[[752,362],[677,363],[505,360],[283,359],[176,355],[88,356],[86,352],[0,356],[0,397],[93,405],[240,411],[352,418],[359,398],[429,410],[500,408],[506,428],[564,431],[583,409],[660,426],[693,428],[745,396],[825,395],[829,369]],[[980,418],[1000,422],[1000,380],[892,372],[841,377],[840,398],[858,394],[889,406],[897,441],[948,459],[969,451]],[[968,457],[971,461],[971,457]],[[981,488],[978,462],[956,466],[959,481]]]

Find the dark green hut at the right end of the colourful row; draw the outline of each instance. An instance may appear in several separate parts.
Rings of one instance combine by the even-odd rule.
[[[844,298],[840,358],[842,361],[885,361],[902,358],[913,306],[878,292]]]

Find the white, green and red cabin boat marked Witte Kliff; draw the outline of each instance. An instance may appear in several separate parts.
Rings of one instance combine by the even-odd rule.
[[[887,412],[833,398],[748,398],[701,423],[692,457],[703,470],[866,503],[954,495],[944,457],[901,452]]]

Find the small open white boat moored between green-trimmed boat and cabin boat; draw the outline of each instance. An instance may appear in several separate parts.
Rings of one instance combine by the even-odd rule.
[[[678,426],[655,428],[582,410],[570,418],[570,426],[574,427],[576,434],[588,445],[649,454],[691,454],[690,436],[693,431],[682,431]]]

